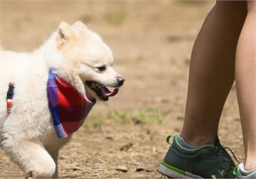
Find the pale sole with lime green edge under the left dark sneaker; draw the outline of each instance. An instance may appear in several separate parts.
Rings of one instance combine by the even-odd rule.
[[[171,166],[169,166],[169,167],[171,167]],[[171,168],[169,168],[169,167],[166,163],[163,164],[163,162],[162,162],[160,164],[159,168],[157,168],[156,170],[168,178],[185,178],[185,179],[202,178],[201,176],[194,175],[194,174],[188,173],[188,172],[178,173],[177,171],[172,170],[171,169],[172,167]]]

